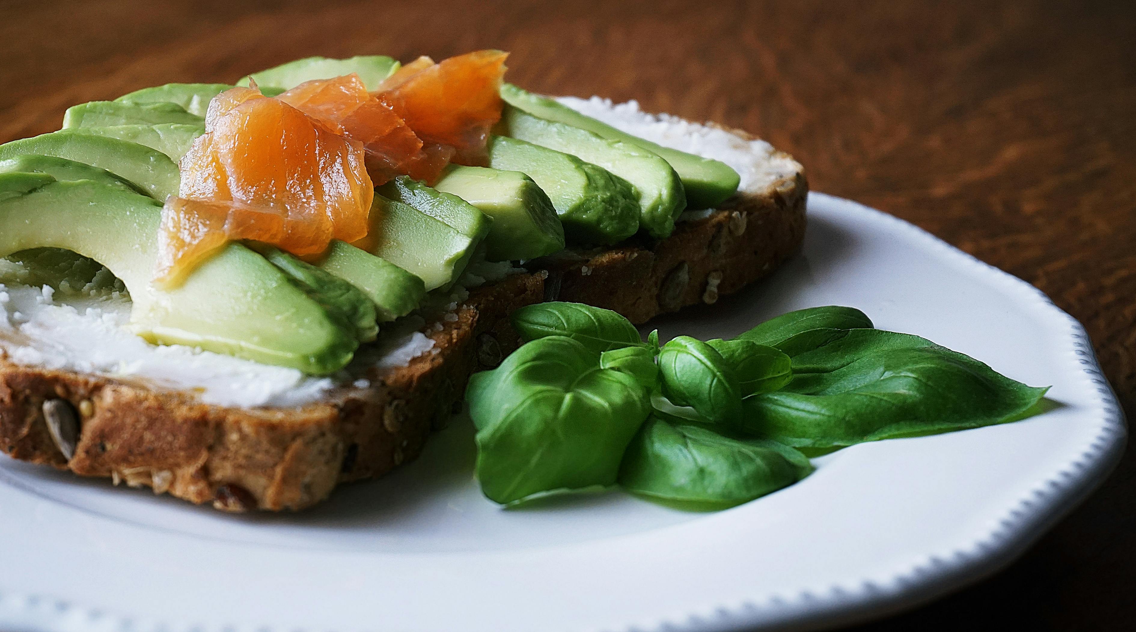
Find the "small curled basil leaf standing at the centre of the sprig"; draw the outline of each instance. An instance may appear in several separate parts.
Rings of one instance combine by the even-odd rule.
[[[742,413],[742,395],[734,368],[712,346],[679,336],[659,349],[662,393],[679,406],[690,406],[717,424],[732,425]]]

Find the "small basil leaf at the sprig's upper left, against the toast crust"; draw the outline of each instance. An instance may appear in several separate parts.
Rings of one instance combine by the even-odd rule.
[[[512,328],[528,342],[545,336],[568,336],[595,353],[642,346],[638,330],[611,310],[583,303],[537,303],[515,311]]]

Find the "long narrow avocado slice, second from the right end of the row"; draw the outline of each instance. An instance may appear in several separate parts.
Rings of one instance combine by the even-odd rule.
[[[538,118],[508,104],[501,113],[501,128],[507,136],[570,153],[632,183],[638,192],[640,227],[653,237],[669,236],[675,218],[686,208],[678,174],[643,148]]]

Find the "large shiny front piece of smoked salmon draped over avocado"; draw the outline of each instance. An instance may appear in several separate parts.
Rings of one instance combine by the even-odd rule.
[[[256,89],[218,94],[166,201],[154,281],[175,285],[226,242],[315,254],[367,234],[374,184],[362,143]]]

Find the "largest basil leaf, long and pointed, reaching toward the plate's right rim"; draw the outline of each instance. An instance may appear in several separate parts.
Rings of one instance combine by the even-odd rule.
[[[930,340],[853,329],[793,356],[793,379],[745,401],[753,436],[810,450],[978,428],[1028,415],[1047,388]]]

